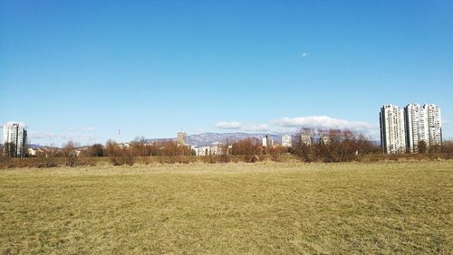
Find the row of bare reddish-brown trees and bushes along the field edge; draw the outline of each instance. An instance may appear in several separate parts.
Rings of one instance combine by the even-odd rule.
[[[14,157],[14,145],[6,144],[0,148],[2,160]],[[451,158],[453,143],[444,142],[442,146],[425,148],[420,143],[420,154],[429,158]],[[25,152],[24,152],[25,153]],[[34,157],[46,158],[43,165],[53,164],[53,158],[64,158],[64,165],[83,165],[92,157],[108,157],[112,165],[133,165],[137,160],[157,158],[159,163],[190,163],[197,161],[195,152],[176,141],[161,141],[147,143],[144,137],[137,137],[129,146],[123,146],[109,140],[105,146],[78,146],[68,142],[62,148],[47,148],[38,150]],[[350,162],[360,161],[364,156],[369,158],[392,158],[399,156],[382,156],[381,147],[375,145],[370,137],[347,129],[315,129],[303,128],[293,136],[293,145],[263,146],[259,138],[246,138],[218,146],[217,155],[201,156],[207,163],[226,163],[230,161],[257,162],[266,159],[284,161],[286,158],[296,158],[304,162]]]

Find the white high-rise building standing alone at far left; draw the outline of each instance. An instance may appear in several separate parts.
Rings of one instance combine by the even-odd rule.
[[[3,127],[4,153],[7,156],[23,157],[26,154],[27,131],[20,123],[8,122]]]

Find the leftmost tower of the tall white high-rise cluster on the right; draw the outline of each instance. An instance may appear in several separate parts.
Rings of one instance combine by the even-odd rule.
[[[384,105],[380,112],[381,146],[384,153],[406,152],[404,110],[394,105]]]

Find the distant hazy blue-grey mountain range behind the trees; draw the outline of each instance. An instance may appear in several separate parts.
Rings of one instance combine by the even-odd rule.
[[[246,138],[263,138],[265,134],[255,133],[202,133],[198,135],[189,135],[188,136],[188,144],[192,146],[210,146],[213,143],[234,143],[239,140],[243,140]],[[278,135],[271,135],[272,139],[275,143],[280,143],[280,136]],[[162,142],[162,141],[174,141],[176,138],[155,138],[155,139],[147,139],[148,143],[153,142]]]

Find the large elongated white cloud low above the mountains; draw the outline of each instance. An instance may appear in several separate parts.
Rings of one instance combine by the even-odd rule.
[[[355,131],[370,130],[376,128],[375,125],[363,121],[351,121],[341,118],[328,116],[309,116],[295,118],[281,118],[273,121],[279,127],[313,127],[313,128],[338,128],[351,129]]]

